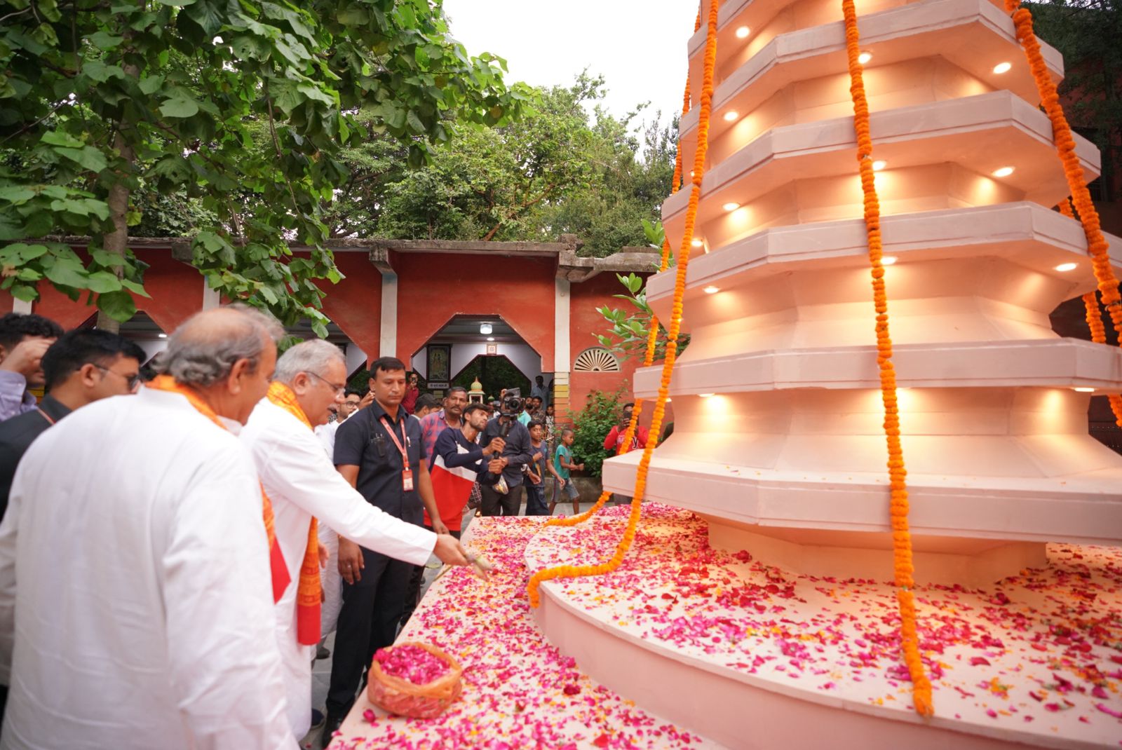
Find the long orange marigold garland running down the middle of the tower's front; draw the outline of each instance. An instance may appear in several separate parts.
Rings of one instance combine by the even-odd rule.
[[[864,192],[865,226],[868,235],[868,260],[872,265],[873,299],[876,306],[876,362],[881,371],[881,399],[884,402],[884,435],[889,448],[889,487],[891,493],[892,552],[895,567],[896,603],[900,608],[900,648],[912,679],[916,711],[925,716],[934,713],[931,683],[923,672],[916,627],[916,598],[912,589],[911,534],[908,526],[908,484],[903,448],[900,445],[900,411],[896,404],[896,373],[892,365],[892,339],[889,335],[889,300],[884,288],[884,266],[881,244],[881,205],[873,182],[873,139],[870,135],[868,101],[857,33],[857,12],[853,0],[843,0],[846,52],[849,56],[849,93],[853,98],[854,129],[857,132],[857,163]]]

